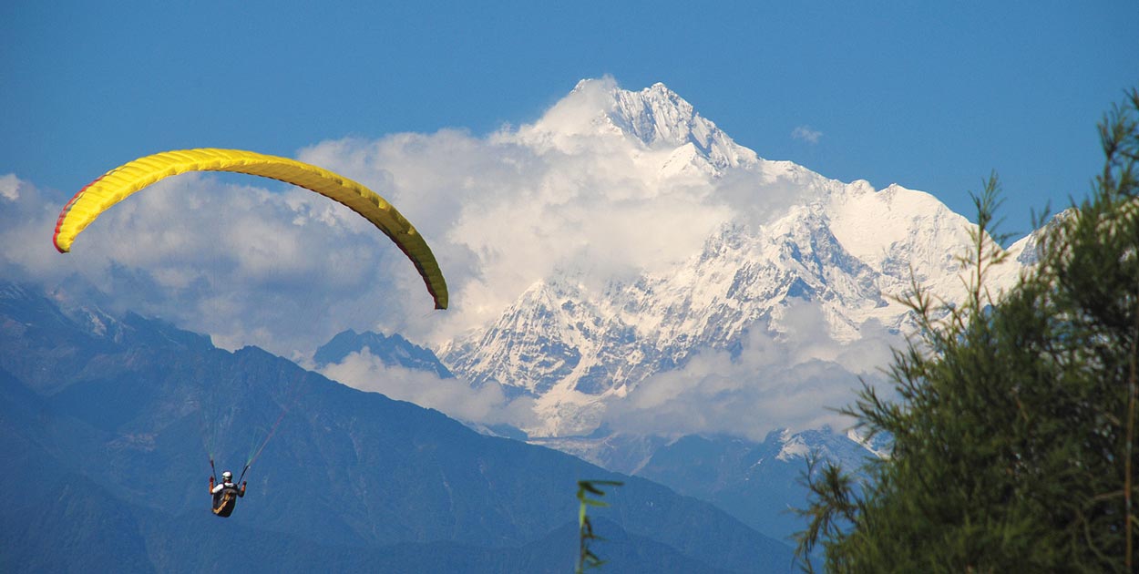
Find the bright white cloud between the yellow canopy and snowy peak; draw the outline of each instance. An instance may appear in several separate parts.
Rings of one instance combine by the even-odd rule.
[[[575,92],[547,118],[583,121],[576,116],[588,107],[574,101],[591,93]],[[591,146],[550,147],[538,141],[535,125],[485,139],[442,131],[328,141],[301,154],[372,186],[432,245],[452,309],[408,318],[401,327],[421,341],[485,325],[555,269],[579,271],[597,287],[666,269],[731,216],[731,196],[718,197],[706,181],[697,188],[659,180],[665,151],[596,137]]]

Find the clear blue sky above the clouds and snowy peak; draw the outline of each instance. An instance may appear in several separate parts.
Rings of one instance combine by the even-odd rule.
[[[995,169],[1026,231],[1087,191],[1095,124],[1139,84],[1134,1],[11,0],[0,38],[0,175],[67,196],[165,149],[483,134],[609,74],[664,82],[762,157],[966,215]]]

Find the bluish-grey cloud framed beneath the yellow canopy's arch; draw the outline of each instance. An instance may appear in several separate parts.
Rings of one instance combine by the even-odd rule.
[[[286,356],[347,327],[402,325],[413,305],[431,310],[403,254],[347,207],[240,181],[163,180],[100,215],[65,255],[51,246],[64,198],[25,184],[18,202],[0,203],[5,276],[84,296],[93,286],[104,296],[92,303]]]

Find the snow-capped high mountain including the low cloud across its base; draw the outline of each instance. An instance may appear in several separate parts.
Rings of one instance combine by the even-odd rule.
[[[498,383],[533,397],[542,423],[525,428],[532,437],[589,434],[608,405],[637,396],[707,418],[693,401],[730,410],[719,397],[754,397],[780,385],[794,394],[797,383],[819,385],[821,371],[830,385],[825,394],[834,394],[826,401],[842,404],[838,396],[849,397],[860,375],[888,361],[887,341],[911,328],[899,300],[913,280],[947,302],[962,294],[957,256],[970,244],[972,224],[936,197],[760,159],[664,84],[628,91],[608,79],[582,81],[538,122],[502,137],[550,162],[568,161],[574,184],[595,197],[644,190],[621,202],[603,197],[590,210],[620,210],[625,227],[672,226],[667,233],[621,235],[621,243],[607,229],[575,236],[590,257],[535,277],[495,320],[440,348],[441,360],[474,385]],[[661,216],[678,210],[683,216]],[[683,240],[670,237],[685,232]],[[670,253],[645,266],[634,257],[592,265],[611,248],[653,253],[637,241]],[[994,293],[1021,264],[992,273],[1002,281],[990,285]],[[617,268],[620,276],[574,276]],[[867,348],[852,351],[860,343]],[[715,391],[691,391],[703,384]],[[771,400],[788,400],[786,393]],[[822,420],[775,415],[789,427]]]

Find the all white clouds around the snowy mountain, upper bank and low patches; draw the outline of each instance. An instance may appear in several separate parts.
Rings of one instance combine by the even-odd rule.
[[[775,172],[666,178],[661,166],[670,150],[590,132],[615,85],[584,83],[539,122],[484,138],[443,130],[300,151],[300,159],[370,187],[419,229],[448,279],[445,312],[432,310],[412,265],[362,218],[252,177],[163,180],[103,214],[68,255],[50,244],[67,198],[2,177],[0,264],[5,276],[54,288],[88,282],[105,294],[103,304],[207,333],[223,347],[259,345],[303,358],[344,329],[441,344],[497,318],[554,270],[574,271],[596,288],[614,277],[662,272],[697,253],[723,222],[762,221],[794,200],[789,179]],[[821,137],[801,130],[796,137]],[[804,325],[814,325],[809,310],[802,313]],[[805,425],[830,417],[820,404],[845,403],[857,382],[843,368],[863,372],[860,360],[882,355],[870,351],[811,337],[787,346],[753,335],[739,358],[699,355],[645,382],[609,416],[615,426],[663,434],[743,424],[741,432],[756,435],[772,425]],[[472,391],[459,380],[385,368],[368,354],[327,374],[468,420],[533,423],[527,402],[507,402],[497,388]]]

